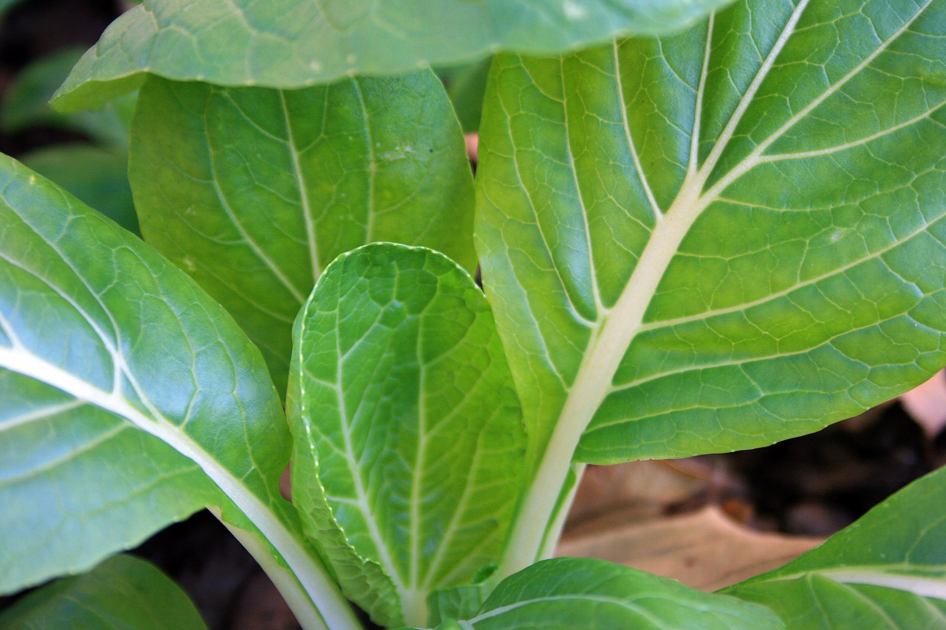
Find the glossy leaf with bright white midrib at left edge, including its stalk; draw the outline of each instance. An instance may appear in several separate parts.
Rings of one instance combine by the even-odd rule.
[[[79,570],[204,502],[272,544],[274,560],[244,541],[286,573],[274,579],[290,603],[305,587],[326,621],[358,627],[279,496],[289,428],[259,350],[182,271],[52,182],[0,156],[0,184],[0,385],[19,407],[0,424],[0,491],[27,515],[18,538],[5,530],[3,590]],[[188,493],[193,465],[226,497],[202,480]],[[295,608],[322,627],[311,603]]]

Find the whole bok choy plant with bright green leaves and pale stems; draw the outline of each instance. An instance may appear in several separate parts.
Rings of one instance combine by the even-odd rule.
[[[106,558],[208,508],[306,630],[946,628],[943,470],[719,593],[552,557],[946,365],[946,0],[144,0],[53,105],[134,90],[144,242],[0,157],[0,592],[92,570],[0,627],[201,628]]]

